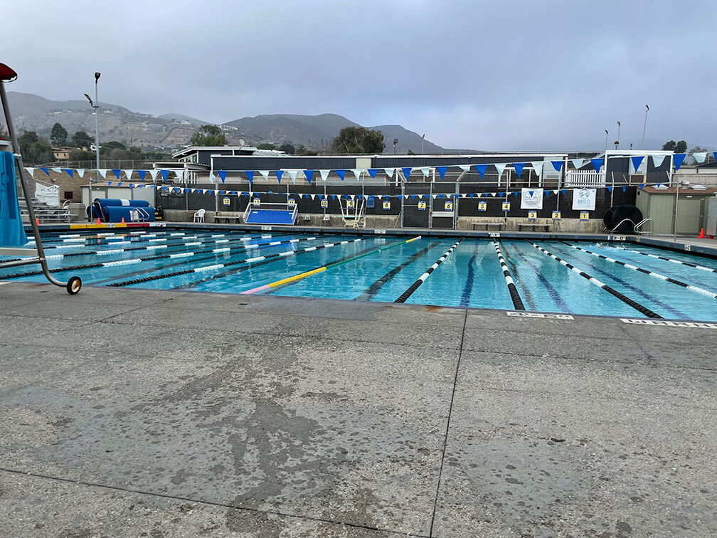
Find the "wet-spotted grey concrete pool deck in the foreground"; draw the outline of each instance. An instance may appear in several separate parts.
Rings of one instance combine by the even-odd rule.
[[[717,534],[717,324],[0,284],[4,536]]]

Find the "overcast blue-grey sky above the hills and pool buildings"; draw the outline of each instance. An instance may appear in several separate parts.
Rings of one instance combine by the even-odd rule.
[[[336,113],[440,146],[717,146],[717,2],[8,1],[9,90],[223,123]]]

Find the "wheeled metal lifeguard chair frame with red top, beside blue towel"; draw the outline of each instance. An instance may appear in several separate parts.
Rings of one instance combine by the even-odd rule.
[[[40,231],[39,226],[37,225],[37,220],[35,220],[35,211],[32,207],[32,199],[29,197],[27,192],[27,183],[25,182],[25,175],[24,175],[24,166],[22,164],[22,155],[20,155],[20,148],[17,143],[17,138],[15,136],[15,128],[12,124],[12,118],[10,117],[10,110],[7,105],[7,95],[5,93],[5,82],[12,82],[13,80],[16,80],[17,73],[11,69],[11,67],[8,67],[7,65],[0,63],[0,101],[2,102],[2,109],[3,113],[5,115],[5,121],[7,123],[7,130],[10,134],[10,141],[12,143],[12,155],[14,159],[14,164],[18,170],[18,174],[20,176],[20,184],[22,185],[22,193],[24,194],[25,201],[27,202],[27,212],[29,214],[30,218],[30,225],[32,226],[32,233],[35,237],[35,247],[37,249],[37,256],[34,256],[33,258],[27,258],[24,260],[14,260],[9,262],[0,262],[0,268],[6,268],[6,267],[16,267],[17,265],[31,265],[33,263],[39,263],[40,267],[42,267],[42,273],[45,275],[45,278],[49,280],[50,283],[54,285],[58,285],[61,287],[64,287],[67,290],[67,293],[70,293],[70,295],[75,295],[78,291],[80,291],[80,288],[82,288],[82,280],[80,280],[80,277],[78,276],[72,276],[70,277],[70,280],[67,280],[67,282],[60,282],[60,280],[57,280],[57,278],[54,278],[49,273],[49,268],[47,268],[47,258],[45,258],[44,255],[44,249],[42,248],[42,237],[40,237]]]

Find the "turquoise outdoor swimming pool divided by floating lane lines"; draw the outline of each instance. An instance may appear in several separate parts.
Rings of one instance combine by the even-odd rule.
[[[629,242],[158,228],[43,237],[51,270],[86,285],[717,321],[717,260]],[[38,272],[0,278],[44,281]]]

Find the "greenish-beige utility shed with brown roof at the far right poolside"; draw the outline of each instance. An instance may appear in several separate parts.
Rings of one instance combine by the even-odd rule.
[[[677,211],[678,235],[698,235],[707,225],[709,198],[717,194],[715,187],[681,186]],[[675,233],[675,198],[677,187],[645,187],[637,190],[635,205],[642,216],[655,222],[655,234]],[[649,227],[643,227],[649,230]]]

